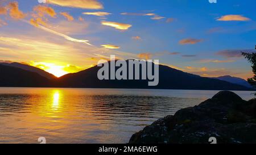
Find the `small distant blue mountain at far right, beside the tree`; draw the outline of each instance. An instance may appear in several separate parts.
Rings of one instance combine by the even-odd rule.
[[[249,87],[249,88],[252,87],[245,79],[238,78],[238,77],[222,76],[222,77],[215,77],[214,79],[220,79],[222,81],[234,83],[234,84]]]

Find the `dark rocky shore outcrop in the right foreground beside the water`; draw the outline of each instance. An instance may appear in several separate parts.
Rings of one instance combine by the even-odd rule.
[[[135,133],[130,144],[256,143],[256,99],[220,91],[199,106],[184,108]]]

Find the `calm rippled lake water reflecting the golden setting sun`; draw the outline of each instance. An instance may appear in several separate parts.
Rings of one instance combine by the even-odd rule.
[[[0,88],[0,143],[127,143],[218,91]],[[235,91],[243,99],[252,92]]]

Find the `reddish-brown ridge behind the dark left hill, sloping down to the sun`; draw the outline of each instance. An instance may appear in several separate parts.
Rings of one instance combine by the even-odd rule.
[[[35,72],[35,73],[38,73],[40,76],[46,77],[48,79],[56,78],[55,76],[53,76],[53,74],[50,74],[50,73],[48,73],[48,72],[46,72],[42,69],[36,68],[34,66],[30,66],[30,65],[20,64],[18,62],[13,62],[13,63],[10,63],[10,64],[0,63],[0,65],[12,66],[12,67],[20,68],[20,69],[27,70],[27,71],[30,71],[30,72]]]

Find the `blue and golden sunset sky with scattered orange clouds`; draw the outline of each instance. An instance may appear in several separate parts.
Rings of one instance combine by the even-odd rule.
[[[253,74],[241,51],[254,52],[255,6],[254,0],[0,0],[0,62],[60,77],[115,55],[246,79]]]

